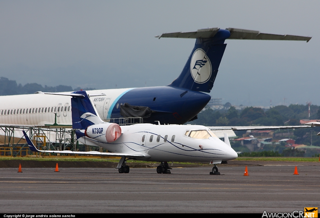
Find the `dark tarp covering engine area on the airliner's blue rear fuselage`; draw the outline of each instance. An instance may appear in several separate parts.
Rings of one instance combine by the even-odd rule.
[[[120,105],[120,115],[123,117],[148,118],[151,116],[151,109],[150,107],[134,106],[124,103],[124,105]]]

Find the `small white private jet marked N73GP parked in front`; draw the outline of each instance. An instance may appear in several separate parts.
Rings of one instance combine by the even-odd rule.
[[[120,127],[100,119],[86,91],[76,91],[70,96],[72,127],[77,129],[77,140],[87,145],[101,146],[111,153],[38,150],[23,131],[31,151],[118,156],[122,157],[116,167],[119,173],[129,173],[127,159],[157,161],[160,162],[157,173],[171,173],[168,161],[201,161],[216,165],[238,157],[227,135],[223,142],[207,127],[154,124]],[[216,166],[211,174],[220,174]]]

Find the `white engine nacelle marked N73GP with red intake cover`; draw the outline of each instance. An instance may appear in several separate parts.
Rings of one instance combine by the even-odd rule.
[[[84,134],[102,142],[114,142],[121,136],[121,127],[116,123],[101,123],[88,126]]]

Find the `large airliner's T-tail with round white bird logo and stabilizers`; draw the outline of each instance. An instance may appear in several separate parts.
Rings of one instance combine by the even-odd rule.
[[[226,39],[241,40],[293,40],[309,42],[311,37],[297,35],[276,35],[260,33],[247,29],[199,29],[196,32],[164,33],[160,38],[192,38],[196,39],[186,65],[180,76],[169,86],[183,89],[210,92],[216,79],[218,68],[226,49]]]

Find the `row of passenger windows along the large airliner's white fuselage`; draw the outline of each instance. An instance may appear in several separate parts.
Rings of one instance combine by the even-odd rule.
[[[67,111],[67,106],[63,108],[63,106],[58,107],[58,112]],[[40,107],[38,108],[24,108],[24,109],[9,109],[9,110],[1,110],[1,115],[9,115],[9,114],[28,114],[28,113],[56,113],[57,107]],[[70,106],[68,106],[68,111],[70,111]]]

